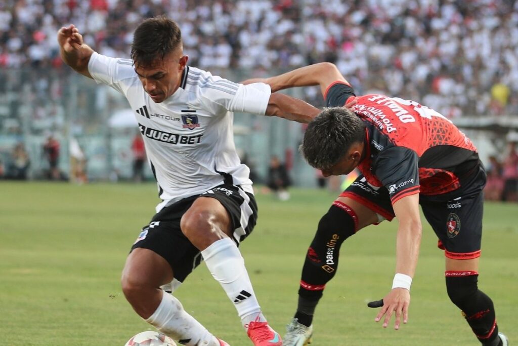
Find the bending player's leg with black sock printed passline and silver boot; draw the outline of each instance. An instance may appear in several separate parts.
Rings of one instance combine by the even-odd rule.
[[[338,269],[342,242],[359,229],[379,221],[377,213],[348,197],[337,198],[321,218],[304,262],[297,312],[287,326],[285,346],[303,346],[311,342],[314,311],[326,283],[333,279]]]

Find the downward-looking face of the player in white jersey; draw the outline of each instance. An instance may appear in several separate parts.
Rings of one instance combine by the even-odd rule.
[[[155,60],[150,66],[135,66],[144,90],[155,103],[163,102],[180,87],[188,59],[180,48],[167,54],[163,60]]]

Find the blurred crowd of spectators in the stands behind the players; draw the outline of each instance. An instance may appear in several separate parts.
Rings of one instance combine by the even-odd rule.
[[[2,0],[0,133],[22,131],[23,116],[42,141],[63,130],[73,72],[59,56],[61,26],[128,58],[135,27],[157,15],[179,23],[189,64],[214,74],[268,76],[329,61],[358,94],[420,101],[452,119],[518,117],[515,0]],[[303,96],[323,105],[319,89]],[[99,113],[84,98],[76,132]]]

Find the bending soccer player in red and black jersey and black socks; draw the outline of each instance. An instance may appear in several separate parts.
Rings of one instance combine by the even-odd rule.
[[[324,176],[362,173],[321,218],[307,252],[297,312],[285,346],[310,341],[312,319],[338,268],[339,248],[358,230],[397,217],[396,274],[375,321],[395,329],[408,320],[410,285],[419,257],[421,204],[444,250],[446,287],[483,345],[508,344],[498,333],[492,300],[478,289],[482,189],[486,175],[477,149],[454,124],[414,101],[380,94],[356,96],[334,64],[319,63],[263,81],[272,92],[321,87],[327,107],[310,123],[301,153]]]

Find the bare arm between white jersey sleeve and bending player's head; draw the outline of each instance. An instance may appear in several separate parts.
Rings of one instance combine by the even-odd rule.
[[[265,115],[308,123],[319,113],[320,109],[307,102],[281,93],[272,93]]]

